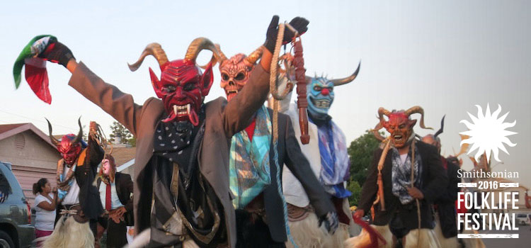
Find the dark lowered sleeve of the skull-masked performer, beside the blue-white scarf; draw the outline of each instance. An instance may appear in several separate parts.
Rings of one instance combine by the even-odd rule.
[[[285,164],[287,168],[292,171],[293,175],[302,184],[318,217],[335,211],[329,195],[324,191],[324,188],[315,177],[308,159],[304,157],[304,154],[300,150],[299,142],[297,142],[297,137],[295,137],[295,131],[293,130],[290,118],[286,118],[286,120],[285,149],[287,161],[285,161]]]

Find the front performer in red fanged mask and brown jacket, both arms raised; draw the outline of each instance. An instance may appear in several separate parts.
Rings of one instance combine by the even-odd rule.
[[[307,30],[304,18],[291,23],[299,33]],[[224,98],[204,103],[212,86],[214,61],[203,73],[195,58],[204,49],[217,53],[206,38],[194,40],[183,60],[169,61],[160,45],[147,46],[130,68],[137,69],[144,57],[153,55],[159,62],[161,79],[149,70],[159,99],[149,98],[142,106],[131,95],[105,83],[85,64],[78,64],[61,43],[53,43],[40,54],[66,65],[72,72],[69,85],[137,137],[133,197],[135,230],[140,232],[137,242],[148,239],[148,247],[234,247],[236,220],[228,174],[230,138],[249,126],[253,113],[267,97],[270,51],[277,33],[278,16],[274,16],[261,65],[253,69],[249,84],[229,103]],[[293,35],[286,30],[283,41],[289,42]]]

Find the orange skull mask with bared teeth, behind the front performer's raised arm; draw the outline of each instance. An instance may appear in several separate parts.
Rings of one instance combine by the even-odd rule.
[[[230,59],[223,54],[219,45],[217,45],[219,52],[219,72],[221,73],[221,87],[224,89],[227,96],[227,101],[238,94],[241,89],[244,88],[247,81],[249,81],[249,75],[253,69],[256,60],[262,55],[261,47],[246,56],[244,54],[237,54]]]

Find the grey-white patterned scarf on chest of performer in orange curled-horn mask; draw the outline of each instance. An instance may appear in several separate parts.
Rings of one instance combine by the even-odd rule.
[[[393,194],[400,199],[402,204],[411,203],[413,197],[408,193],[407,188],[411,186],[411,147],[409,148],[406,162],[402,164],[399,151],[396,148],[391,149],[392,159],[392,174],[391,181],[393,184]],[[422,159],[421,154],[418,152],[418,148],[415,147],[415,169],[413,170],[413,185],[416,188],[421,188],[421,174],[422,174]]]

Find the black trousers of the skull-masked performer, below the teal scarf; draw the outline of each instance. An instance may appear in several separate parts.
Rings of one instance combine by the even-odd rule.
[[[268,224],[261,216],[236,210],[236,248],[285,248],[284,242],[271,238]]]

